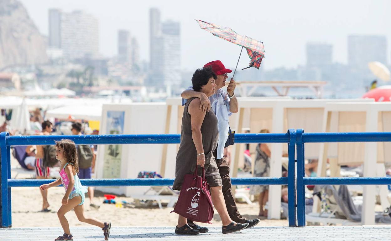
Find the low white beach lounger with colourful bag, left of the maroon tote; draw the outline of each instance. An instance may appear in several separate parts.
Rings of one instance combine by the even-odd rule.
[[[161,175],[151,171],[140,171],[137,178],[162,178]],[[152,205],[154,201],[162,208],[162,201],[168,201],[167,207],[174,207],[178,201],[179,191],[172,190],[169,186],[151,186],[143,195],[131,195],[135,199],[136,205],[144,200],[147,206]]]

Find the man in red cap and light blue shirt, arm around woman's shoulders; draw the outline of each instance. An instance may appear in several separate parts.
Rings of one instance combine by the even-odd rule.
[[[231,193],[231,180],[230,180],[230,166],[225,160],[224,157],[224,145],[228,139],[228,116],[232,113],[238,112],[238,100],[235,96],[235,80],[231,79],[228,84],[227,91],[223,89],[226,84],[226,79],[228,79],[228,74],[232,70],[224,67],[221,61],[216,60],[209,62],[204,65],[204,68],[212,68],[213,72],[217,75],[215,80],[216,92],[209,98],[202,92],[197,92],[192,89],[190,86],[187,90],[183,91],[181,94],[182,105],[185,105],[187,100],[192,97],[200,98],[201,105],[199,109],[203,111],[209,111],[212,107],[212,111],[216,114],[217,124],[219,128],[219,143],[213,155],[215,155],[217,166],[219,167],[220,176],[222,179],[222,193],[224,195],[225,204],[227,211],[230,214],[230,218],[237,223],[249,223],[247,228],[254,227],[257,225],[260,220],[258,218],[254,220],[246,220],[240,215],[235,198],[233,198]],[[228,95],[227,95],[228,92]],[[199,230],[200,232],[208,232],[206,227],[200,227],[194,224],[191,220],[187,220],[188,225],[192,229]]]

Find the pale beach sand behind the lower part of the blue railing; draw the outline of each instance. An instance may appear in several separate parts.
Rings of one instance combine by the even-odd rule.
[[[61,199],[65,191],[63,187],[54,187],[48,190],[48,201],[50,212],[40,212],[42,205],[41,194],[38,187],[14,187],[12,188],[12,227],[61,227],[57,210],[61,206]],[[84,203],[85,215],[97,218],[102,221],[110,220],[115,227],[129,226],[175,226],[178,215],[170,213],[172,208],[163,207],[116,207],[114,204],[103,204],[102,193],[95,192],[95,203],[100,205],[100,209],[91,208],[90,200],[86,197]],[[117,197],[117,202],[125,200],[133,203],[133,198]],[[167,204],[165,204],[167,205]],[[238,204],[239,211],[248,219],[259,218],[256,216],[258,205]],[[91,227],[86,223],[77,220],[74,212],[68,212],[66,218],[71,227]],[[288,226],[287,220],[267,220],[262,218],[262,226]],[[215,211],[212,220],[213,226],[221,226],[219,215]],[[210,226],[206,224],[205,226]]]

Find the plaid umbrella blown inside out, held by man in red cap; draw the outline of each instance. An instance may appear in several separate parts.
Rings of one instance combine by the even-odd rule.
[[[239,35],[231,28],[222,27],[220,25],[214,23],[208,23],[202,20],[195,20],[195,21],[197,21],[201,29],[211,32],[214,36],[230,41],[231,43],[234,43],[236,45],[242,46],[242,49],[243,47],[246,48],[247,54],[250,57],[250,63],[247,68],[255,67],[259,69],[262,59],[265,57],[264,43],[255,40],[251,37]],[[240,50],[240,54],[242,54],[241,50]],[[239,59],[240,59],[240,55],[239,55]],[[239,63],[239,59],[238,59],[238,63]]]

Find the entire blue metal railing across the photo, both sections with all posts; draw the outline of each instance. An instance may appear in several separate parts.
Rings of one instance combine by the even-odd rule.
[[[93,135],[93,136],[9,136],[0,134],[0,221],[1,227],[11,227],[11,187],[35,187],[52,180],[12,180],[11,145],[53,145],[67,138],[76,144],[176,144],[180,135]],[[384,142],[391,141],[391,132],[304,133],[289,129],[287,134],[236,134],[236,143],[287,143],[288,177],[232,178],[233,185],[288,185],[289,226],[305,226],[306,185],[389,185],[390,177],[324,178],[304,177],[304,143],[323,142]],[[295,148],[296,147],[296,148]],[[297,164],[295,164],[297,152]],[[174,179],[83,179],[86,186],[171,186]]]

